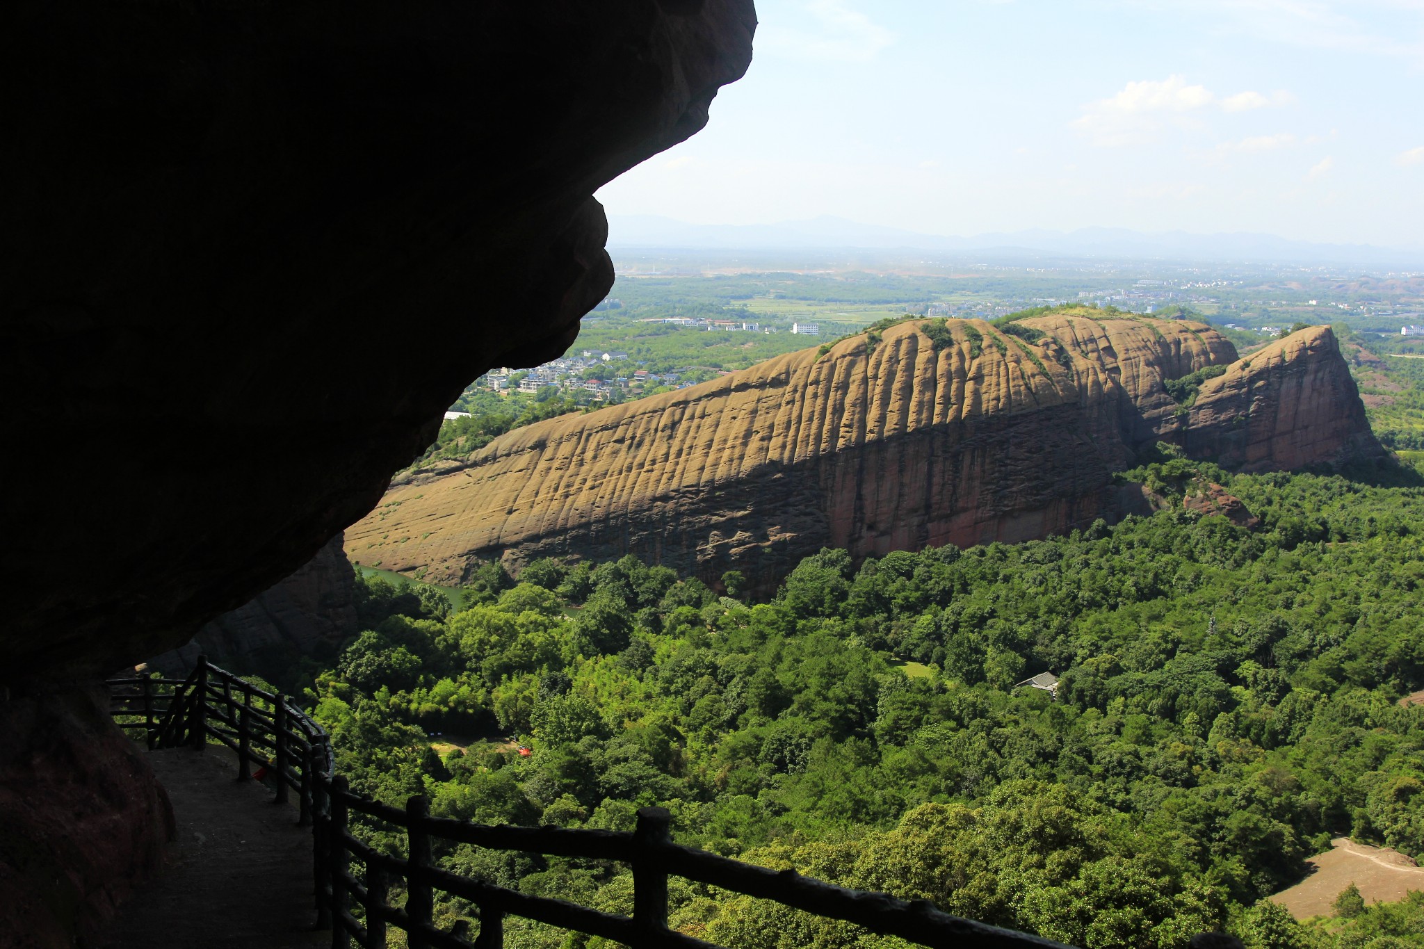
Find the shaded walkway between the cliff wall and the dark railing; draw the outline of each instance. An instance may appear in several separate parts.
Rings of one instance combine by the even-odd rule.
[[[162,876],[134,894],[101,949],[306,949],[312,932],[312,835],[295,807],[276,807],[256,781],[238,784],[221,747],[151,751],[178,837]]]

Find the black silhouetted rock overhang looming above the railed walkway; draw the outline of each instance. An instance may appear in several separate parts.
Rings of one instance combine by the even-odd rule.
[[[753,28],[750,0],[0,7],[0,690],[188,642],[369,511],[470,380],[562,351],[614,277],[592,193],[702,128]],[[0,783],[61,805],[33,767]],[[44,820],[0,815],[0,864]],[[121,872],[91,829],[66,859]]]

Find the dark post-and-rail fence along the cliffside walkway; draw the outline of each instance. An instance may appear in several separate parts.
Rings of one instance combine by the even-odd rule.
[[[316,926],[332,929],[332,948],[386,949],[389,926],[403,929],[410,949],[501,949],[504,918],[521,916],[562,929],[604,936],[634,949],[715,949],[668,928],[668,876],[708,884],[736,894],[772,899],[817,916],[842,919],[871,932],[900,936],[924,946],[1015,949],[1059,943],[960,919],[928,901],[844,889],[799,875],[728,859],[672,842],[671,817],[659,807],[638,811],[637,829],[592,831],[557,827],[491,827],[430,817],[430,801],[414,795],[396,808],[353,794],[335,774],[330,738],[286,696],[263,689],[198,659],[187,680],[112,679],[114,717],[150,748],[218,741],[238,757],[238,778],[261,764],[275,777],[276,801],[299,795],[299,822],[313,825]],[[373,849],[352,834],[352,815],[397,828],[406,857]],[[500,851],[577,857],[632,868],[632,916],[531,896],[441,869],[431,841],[473,844]],[[353,865],[355,861],[355,865]],[[353,872],[355,871],[355,872]],[[404,905],[392,894],[404,891]],[[468,901],[480,929],[471,943],[463,932],[434,925],[436,894]],[[357,913],[362,919],[357,919]]]

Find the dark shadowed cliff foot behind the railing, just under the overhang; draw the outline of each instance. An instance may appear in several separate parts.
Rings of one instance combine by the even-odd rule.
[[[356,572],[342,541],[337,534],[295,573],[205,623],[187,646],[150,659],[150,667],[185,677],[206,654],[235,672],[278,680],[302,656],[333,654],[357,632]]]

